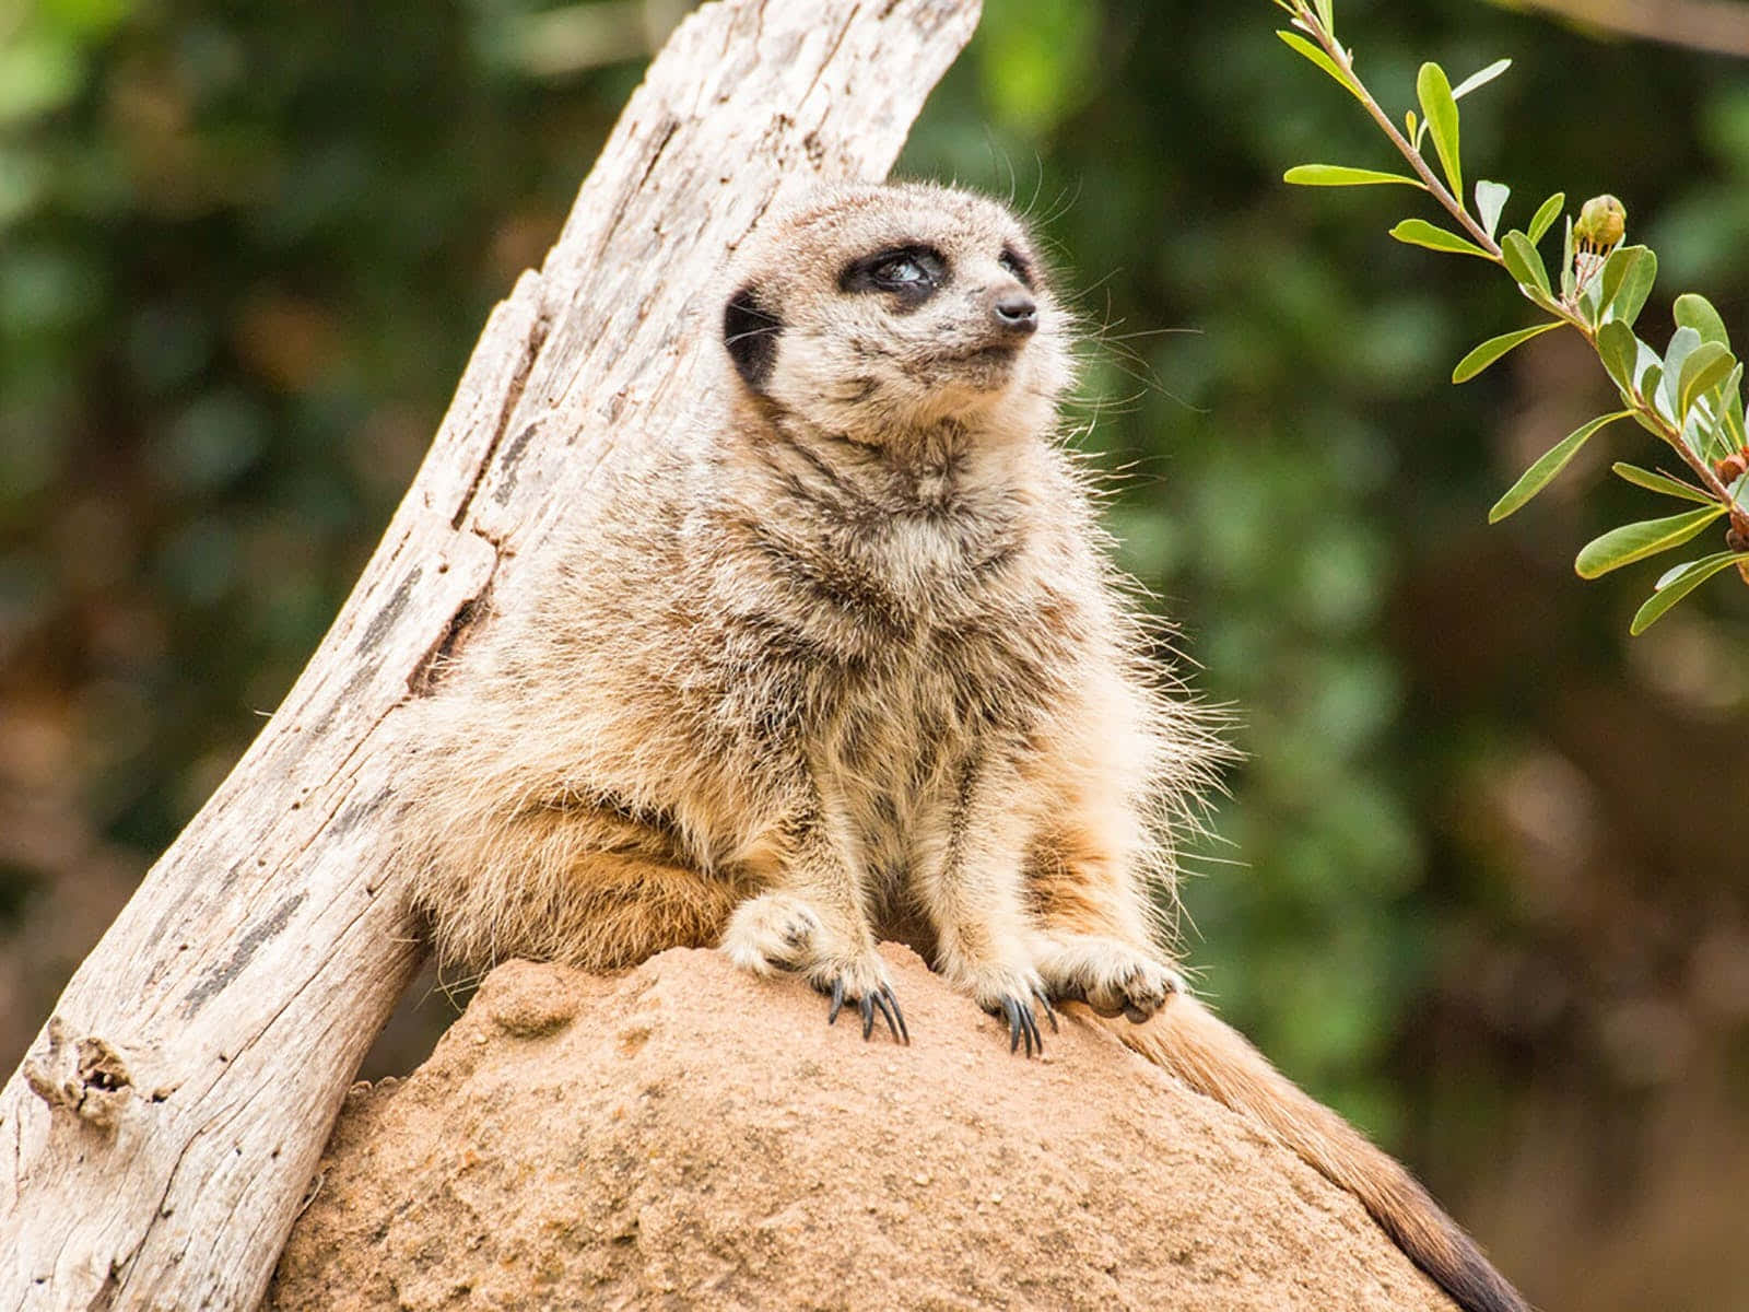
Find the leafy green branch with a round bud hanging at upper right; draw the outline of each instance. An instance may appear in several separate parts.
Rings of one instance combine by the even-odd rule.
[[[1730,334],[1719,311],[1693,292],[1676,299],[1676,334],[1660,355],[1634,332],[1651,296],[1658,257],[1642,245],[1627,245],[1627,212],[1614,196],[1597,196],[1579,208],[1579,217],[1565,213],[1567,198],[1555,192],[1536,208],[1530,222],[1509,229],[1495,240],[1511,189],[1501,182],[1474,184],[1474,210],[1464,201],[1464,171],[1459,154],[1459,101],[1492,82],[1511,66],[1497,59],[1457,86],[1436,63],[1424,63],[1415,79],[1420,114],[1408,110],[1399,129],[1378,100],[1354,72],[1354,52],[1343,49],[1334,31],[1334,0],[1273,0],[1293,17],[1293,31],[1277,35],[1317,65],[1334,82],[1361,101],[1390,143],[1408,161],[1410,173],[1385,173],[1345,164],[1300,164],[1286,180],[1308,187],[1404,185],[1427,192],[1457,222],[1460,231],[1404,219],[1390,236],[1429,250],[1499,264],[1518,283],[1518,290],[1546,322],[1490,338],[1469,352],[1452,371],[1453,383],[1464,383],[1516,346],[1551,329],[1571,327],[1597,352],[1604,371],[1621,395],[1621,409],[1579,425],[1557,443],[1488,511],[1488,523],[1504,520],[1578,455],[1600,429],[1616,420],[1634,420],[1669,446],[1686,465],[1691,479],[1672,478],[1625,462],[1611,469],[1628,483],[1663,497],[1686,500],[1693,509],[1658,520],[1613,528],[1588,542],[1574,562],[1581,577],[1630,565],[1690,542],[1704,530],[1725,521],[1725,551],[1686,560],[1653,586],[1653,595],[1634,616],[1632,632],[1642,633],[1688,593],[1735,567],[1749,583],[1749,437],[1744,432],[1744,366],[1732,352]],[[1425,156],[1427,142],[1439,164],[1434,171]],[[1560,264],[1555,276],[1537,245],[1565,215]]]

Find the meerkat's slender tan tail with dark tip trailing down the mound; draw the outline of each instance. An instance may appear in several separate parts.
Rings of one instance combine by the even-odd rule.
[[[1200,1002],[1177,994],[1144,1025],[1123,1018],[1100,1023],[1198,1093],[1261,1121],[1319,1174],[1348,1190],[1464,1312],[1530,1312],[1474,1240],[1401,1165],[1303,1093]]]

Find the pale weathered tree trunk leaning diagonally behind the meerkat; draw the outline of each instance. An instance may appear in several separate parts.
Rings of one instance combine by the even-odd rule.
[[[516,556],[603,457],[708,404],[689,304],[775,198],[885,175],[976,21],[978,0],[731,0],[673,35],[322,647],[0,1093],[0,1307],[261,1298],[422,955],[373,861],[397,705],[488,588],[519,604]]]

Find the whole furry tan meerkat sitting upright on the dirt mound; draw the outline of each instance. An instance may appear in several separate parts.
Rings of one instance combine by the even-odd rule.
[[[899,939],[1011,1051],[1086,1002],[1464,1309],[1523,1312],[1174,967],[1175,819],[1223,749],[1058,441],[1072,322],[1020,220],[939,185],[822,189],[756,229],[714,306],[719,395],[409,707],[395,861],[441,960],[719,946],[908,1041],[876,952]]]

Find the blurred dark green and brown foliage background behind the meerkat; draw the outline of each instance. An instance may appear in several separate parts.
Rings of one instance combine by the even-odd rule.
[[[1184,882],[1202,988],[1544,1307],[1749,1309],[1749,590],[1628,639],[1660,565],[1574,577],[1669,513],[1607,478],[1656,460],[1630,425],[1487,528],[1602,374],[1550,334],[1448,383],[1532,315],[1385,238],[1411,192],[1279,182],[1394,159],[1266,0],[985,3],[901,171],[1013,196],[1084,289],[1081,441],[1249,757]],[[686,7],[0,9],[0,1069],[313,651]],[[1749,334],[1749,3],[1336,12],[1397,114],[1420,59],[1511,56],[1464,101],[1508,222],[1614,191],[1642,331],[1698,289]]]

